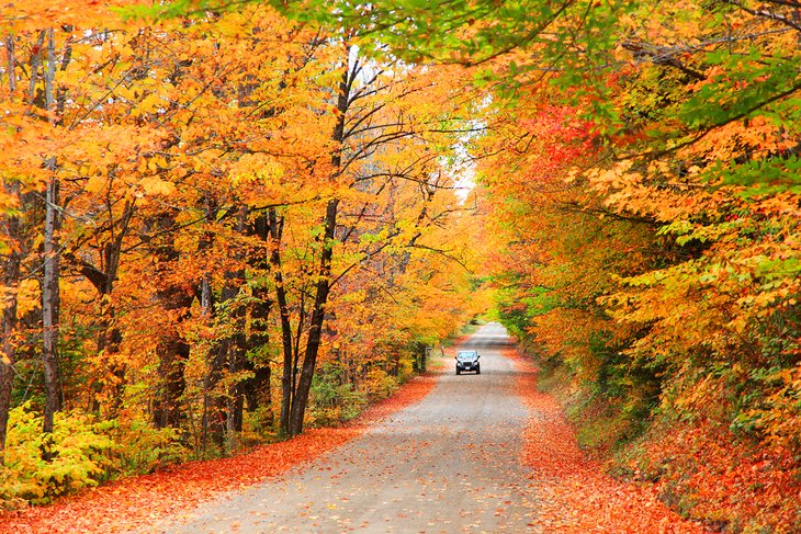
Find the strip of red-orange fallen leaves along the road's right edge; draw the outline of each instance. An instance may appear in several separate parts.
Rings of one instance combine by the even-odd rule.
[[[531,416],[524,431],[522,462],[533,469],[532,486],[541,502],[535,524],[544,532],[703,533],[681,519],[646,488],[605,475],[578,447],[562,407],[537,388],[535,370],[516,350],[517,391]]]

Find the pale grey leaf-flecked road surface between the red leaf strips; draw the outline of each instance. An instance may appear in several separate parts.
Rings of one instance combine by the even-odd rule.
[[[482,374],[451,362],[421,402],[358,440],[245,492],[232,492],[159,530],[207,532],[532,532],[537,504],[520,466],[526,407],[503,327],[487,325],[462,348]]]

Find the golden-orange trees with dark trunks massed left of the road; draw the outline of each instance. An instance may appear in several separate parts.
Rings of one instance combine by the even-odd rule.
[[[452,229],[467,71],[375,61],[267,8],[112,7],[3,8],[5,498],[232,452],[274,420],[298,434],[335,342],[381,397],[473,313]],[[84,429],[70,461],[64,425]]]

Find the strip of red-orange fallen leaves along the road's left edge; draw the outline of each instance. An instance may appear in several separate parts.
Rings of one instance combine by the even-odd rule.
[[[57,501],[49,507],[0,514],[0,532],[115,533],[147,530],[156,521],[212,500],[224,491],[252,486],[309,462],[357,438],[370,424],[421,400],[436,377],[425,375],[340,428],[313,429],[248,454],[190,462],[153,475],[128,478]]]

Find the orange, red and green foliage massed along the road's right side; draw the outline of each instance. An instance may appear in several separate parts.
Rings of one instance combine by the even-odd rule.
[[[648,428],[631,463],[659,474],[682,511],[733,529],[797,521],[789,500],[759,485],[715,489],[745,462],[765,468],[761,484],[781,480],[794,495],[797,8],[335,9],[394,54],[481,65],[477,81],[499,89],[499,102],[511,96],[516,107],[499,107],[492,125],[497,140],[477,152],[490,213],[509,221],[495,225],[492,257],[501,317],[567,372],[587,418],[603,412],[609,428],[590,427],[590,441],[631,441]],[[549,104],[556,111],[543,113]],[[682,445],[661,445],[676,432]],[[725,511],[681,497],[699,493]],[[733,504],[743,499],[765,512]]]

